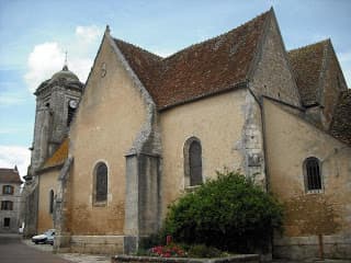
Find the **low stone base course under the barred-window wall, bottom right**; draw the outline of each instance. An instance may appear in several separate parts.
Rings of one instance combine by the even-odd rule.
[[[320,242],[321,241],[321,242]],[[273,258],[290,260],[351,260],[351,235],[274,239]]]

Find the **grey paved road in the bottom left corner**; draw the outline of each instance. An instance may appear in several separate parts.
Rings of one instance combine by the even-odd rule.
[[[37,251],[21,242],[18,235],[0,235],[1,263],[71,263],[48,252]]]

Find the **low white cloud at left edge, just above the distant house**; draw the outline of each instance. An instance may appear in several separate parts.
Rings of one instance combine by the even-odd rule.
[[[0,167],[14,168],[18,165],[20,175],[26,175],[30,164],[31,152],[27,148],[21,146],[0,146]]]

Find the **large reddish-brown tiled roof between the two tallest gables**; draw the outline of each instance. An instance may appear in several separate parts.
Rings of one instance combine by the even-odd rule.
[[[270,12],[163,59],[132,44],[115,43],[158,108],[165,108],[246,81]]]

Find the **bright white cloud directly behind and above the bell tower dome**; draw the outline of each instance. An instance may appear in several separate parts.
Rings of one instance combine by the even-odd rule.
[[[77,26],[76,37],[70,37],[67,45],[57,42],[46,42],[34,47],[27,59],[27,72],[24,79],[31,92],[55,72],[61,70],[65,64],[65,52],[68,52],[68,68],[80,81],[86,82],[98,52],[103,28],[97,25]]]

